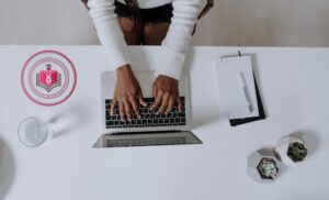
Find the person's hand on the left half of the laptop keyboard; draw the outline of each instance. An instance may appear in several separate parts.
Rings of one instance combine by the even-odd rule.
[[[111,115],[114,113],[115,104],[118,102],[121,121],[126,119],[132,122],[132,108],[136,116],[140,119],[138,105],[147,103],[143,99],[140,86],[129,65],[124,65],[116,69],[116,85],[114,98],[111,103]]]

